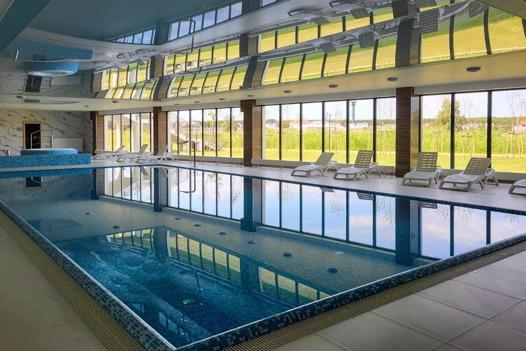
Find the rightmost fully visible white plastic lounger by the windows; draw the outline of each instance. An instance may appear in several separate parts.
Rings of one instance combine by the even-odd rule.
[[[439,188],[443,189],[444,184],[451,183],[454,188],[446,188],[451,190],[462,190],[469,192],[474,183],[479,183],[482,188],[490,176],[492,169],[489,169],[491,158],[485,157],[471,157],[464,171],[459,174],[449,175],[442,179]],[[458,188],[457,184],[466,185],[466,188]]]

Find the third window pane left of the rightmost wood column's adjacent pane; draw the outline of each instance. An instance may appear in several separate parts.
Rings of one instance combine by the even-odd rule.
[[[322,103],[302,104],[302,160],[316,161],[321,153]]]

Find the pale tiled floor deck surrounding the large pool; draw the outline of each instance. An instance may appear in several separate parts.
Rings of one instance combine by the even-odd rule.
[[[166,164],[183,167],[189,165],[189,163],[183,162]],[[110,162],[93,164],[94,167],[115,165],[124,166],[129,164],[114,164]],[[508,184],[502,184],[499,187],[488,185],[485,189],[476,188],[476,192],[467,194],[439,190],[437,188],[404,187],[400,185],[399,178],[391,177],[379,178],[373,176],[367,182],[363,180],[345,182],[333,180],[328,176],[290,177],[290,171],[280,169],[245,168],[214,164],[202,164],[199,168],[206,171],[294,180],[305,184],[347,187],[472,205],[490,205],[510,210],[523,209],[526,202],[526,199],[523,197],[508,195],[507,191],[510,186]],[[16,265],[13,259],[28,260],[28,256],[23,251],[13,246],[16,243],[9,242],[9,235],[5,231],[0,231],[0,236],[3,242],[5,238],[5,242],[9,243],[0,247],[0,253],[2,253],[0,255],[0,265],[2,267]],[[3,254],[4,252],[8,254]],[[33,268],[38,270],[34,265]],[[22,286],[24,284],[35,284],[35,287],[30,289],[35,292],[38,292],[41,288],[45,289],[49,282],[44,277],[41,278],[44,280],[32,279],[31,274],[26,275],[25,279],[19,274],[2,274],[0,276],[0,305],[5,305],[9,296],[13,296],[13,292],[18,290],[26,292],[28,289]],[[59,296],[56,297],[59,298]],[[48,298],[41,298],[41,300],[44,299]],[[282,349],[431,350],[436,348],[459,349],[459,347],[460,349],[478,350],[523,349],[522,345],[526,344],[526,302],[524,299],[526,299],[526,252],[422,290],[417,294],[399,299],[371,312],[361,314],[356,318],[296,340],[283,346]],[[62,301],[65,303],[64,300]],[[5,306],[0,307],[3,310],[6,308]],[[68,307],[67,304],[66,307]],[[48,313],[45,307],[42,308],[44,308],[42,313],[38,312],[36,316],[32,315],[32,320],[39,320],[39,314],[45,316]],[[42,329],[40,333],[38,332],[38,326],[32,328],[24,324],[28,323],[27,319],[29,319],[27,315],[26,317],[24,316],[24,310],[14,310],[12,311],[13,315],[4,313],[2,316],[7,318],[1,317],[0,325],[9,324],[9,329],[11,329],[15,328],[16,323],[19,322],[21,324],[16,329],[27,330],[27,335],[31,334],[32,336],[16,337],[16,333],[7,335],[8,333],[5,333],[5,330],[9,329],[0,328],[0,345],[9,345],[9,349],[33,349],[32,347],[27,347],[31,345],[27,343],[31,343],[31,340],[38,340],[38,343],[33,345],[39,345],[39,349],[70,349],[66,345],[68,345],[68,340],[75,333],[66,333],[67,335],[58,338],[59,342],[54,338],[44,337],[44,330],[59,328],[62,325],[76,323],[75,325],[78,325],[78,327],[74,326],[74,328],[82,329],[86,327],[73,311],[62,312],[63,310],[60,308],[60,306],[52,307],[54,312],[59,313],[61,317],[66,318],[65,316],[69,315],[73,322],[66,321],[51,327],[44,324],[43,327],[40,327]],[[33,308],[33,313],[35,313],[35,310],[39,311],[39,308]],[[73,314],[68,314],[68,312],[73,312]],[[52,324],[54,320],[53,318],[41,319]],[[59,320],[62,321],[62,319]],[[86,332],[86,329],[84,329],[84,332]],[[74,336],[74,339],[77,340],[76,349],[104,349],[95,335],[89,332],[89,329],[87,329],[88,333],[84,332],[82,333],[82,338],[85,337],[88,341],[83,342],[81,341],[82,338],[79,339]],[[60,341],[64,341],[64,344],[60,343]],[[17,346],[17,344],[20,345]]]

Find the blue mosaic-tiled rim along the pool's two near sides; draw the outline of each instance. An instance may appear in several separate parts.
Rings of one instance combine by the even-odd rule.
[[[133,335],[144,347],[150,351],[165,350],[219,350],[228,346],[239,344],[245,340],[260,336],[292,323],[298,322],[316,314],[326,312],[338,306],[354,302],[361,298],[382,292],[383,290],[398,286],[411,280],[421,278],[439,270],[458,265],[468,260],[487,255],[502,248],[518,244],[526,240],[526,233],[501,240],[484,247],[473,249],[466,253],[445,258],[425,266],[413,268],[407,272],[399,273],[387,278],[377,280],[346,292],[339,293],[317,300],[310,304],[300,306],[287,312],[268,317],[257,322],[241,326],[228,332],[200,340],[196,343],[175,348],[163,336],[158,334],[144,320],[120,302],[103,285],[92,278],[84,269],[60,251],[53,243],[33,228],[21,216],[14,212],[2,200],[0,209],[11,218],[24,232],[31,237],[42,249],[51,256],[76,282],[82,286],[104,309],[111,314],[128,332]]]

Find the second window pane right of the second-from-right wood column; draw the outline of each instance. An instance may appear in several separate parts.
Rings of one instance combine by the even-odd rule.
[[[281,105],[281,159],[299,161],[300,105]]]

